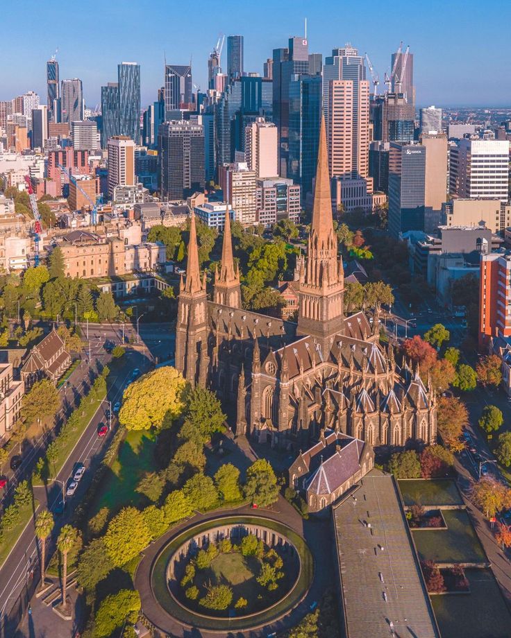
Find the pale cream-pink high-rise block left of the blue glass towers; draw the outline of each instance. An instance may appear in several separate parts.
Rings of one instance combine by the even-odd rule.
[[[245,128],[245,162],[261,178],[278,176],[277,127],[258,117]]]

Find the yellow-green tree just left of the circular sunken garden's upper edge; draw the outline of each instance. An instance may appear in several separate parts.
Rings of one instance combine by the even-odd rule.
[[[127,507],[112,518],[104,540],[113,564],[122,567],[149,545],[151,532],[142,512]]]

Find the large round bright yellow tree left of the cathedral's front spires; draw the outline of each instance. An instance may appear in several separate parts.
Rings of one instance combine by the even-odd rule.
[[[119,421],[128,430],[161,429],[183,413],[186,381],[170,365],[131,383],[124,392]]]

